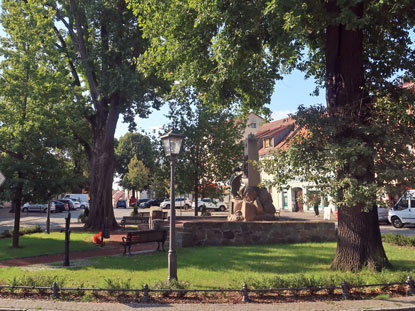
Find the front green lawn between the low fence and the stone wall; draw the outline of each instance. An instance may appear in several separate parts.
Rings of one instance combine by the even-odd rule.
[[[358,274],[331,271],[336,243],[304,243],[201,247],[178,249],[178,277],[194,288],[240,288],[243,282],[275,278],[332,277],[336,280],[358,279],[361,283],[394,282],[411,273],[414,276],[414,248],[385,244],[394,270],[382,273],[362,271]],[[129,280],[132,288],[152,284],[167,278],[167,252],[145,255],[96,257],[82,265],[33,270],[31,268],[1,268],[0,283],[10,283],[14,277],[61,280],[65,286],[106,287],[106,279],[115,282]]]

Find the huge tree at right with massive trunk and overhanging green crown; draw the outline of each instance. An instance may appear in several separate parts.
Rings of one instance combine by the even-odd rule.
[[[415,4],[130,2],[137,14],[145,13],[140,21],[153,44],[146,62],[161,75],[197,88],[206,99],[261,107],[269,100],[275,79],[293,68],[325,86],[327,114],[338,121],[330,140],[338,148],[346,147],[343,154],[335,153],[341,156],[334,162],[340,165],[335,170],[340,209],[333,268],[389,266],[372,208],[376,189],[372,151],[379,146],[373,140],[378,136],[366,134],[375,120],[389,120],[377,115],[402,111],[392,80],[399,71],[414,72],[409,30]],[[395,104],[375,105],[383,96],[396,99]],[[356,143],[359,148],[353,148]],[[353,194],[352,199],[347,194]],[[362,201],[366,198],[370,200]],[[368,205],[370,209],[365,208]]]

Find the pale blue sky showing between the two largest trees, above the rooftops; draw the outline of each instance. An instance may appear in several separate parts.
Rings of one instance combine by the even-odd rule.
[[[313,79],[304,79],[304,74],[298,70],[278,80],[275,84],[274,93],[271,97],[271,103],[266,105],[272,111],[273,121],[283,119],[290,113],[296,112],[298,106],[311,106],[316,104],[325,105],[324,91],[319,96],[310,95],[315,89],[315,81]],[[321,92],[320,92],[321,93]],[[163,106],[159,111],[154,111],[149,118],[136,118],[137,130],[150,132],[158,129],[168,123],[166,115],[168,106]],[[128,125],[122,122],[120,117],[115,137],[119,138],[128,132]]]

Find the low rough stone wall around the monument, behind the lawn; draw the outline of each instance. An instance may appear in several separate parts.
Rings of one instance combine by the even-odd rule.
[[[336,228],[333,222],[235,221],[184,223],[177,242],[179,247],[194,247],[335,240]]]

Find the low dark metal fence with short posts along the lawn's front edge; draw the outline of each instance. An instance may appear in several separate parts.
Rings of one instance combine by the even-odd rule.
[[[241,293],[242,302],[249,302],[249,293],[279,293],[285,291],[291,292],[300,292],[300,291],[309,291],[310,293],[315,293],[321,290],[327,290],[333,292],[335,290],[341,290],[341,294],[344,299],[349,299],[351,297],[351,290],[357,288],[365,287],[392,287],[396,285],[407,286],[407,294],[415,295],[415,282],[411,276],[408,276],[405,282],[396,282],[396,283],[378,283],[378,284],[366,284],[366,285],[353,285],[345,281],[338,286],[315,286],[315,287],[290,287],[290,288],[264,288],[264,289],[250,289],[246,283],[243,284],[240,289],[150,289],[147,284],[144,284],[143,288],[139,289],[130,289],[130,288],[69,288],[62,287],[59,288],[56,282],[53,282],[51,286],[22,286],[22,285],[0,285],[0,289],[23,289],[23,290],[39,290],[39,291],[51,291],[51,298],[57,299],[61,292],[132,292],[136,294],[142,293],[143,299],[142,302],[146,303],[150,299],[150,293]]]

